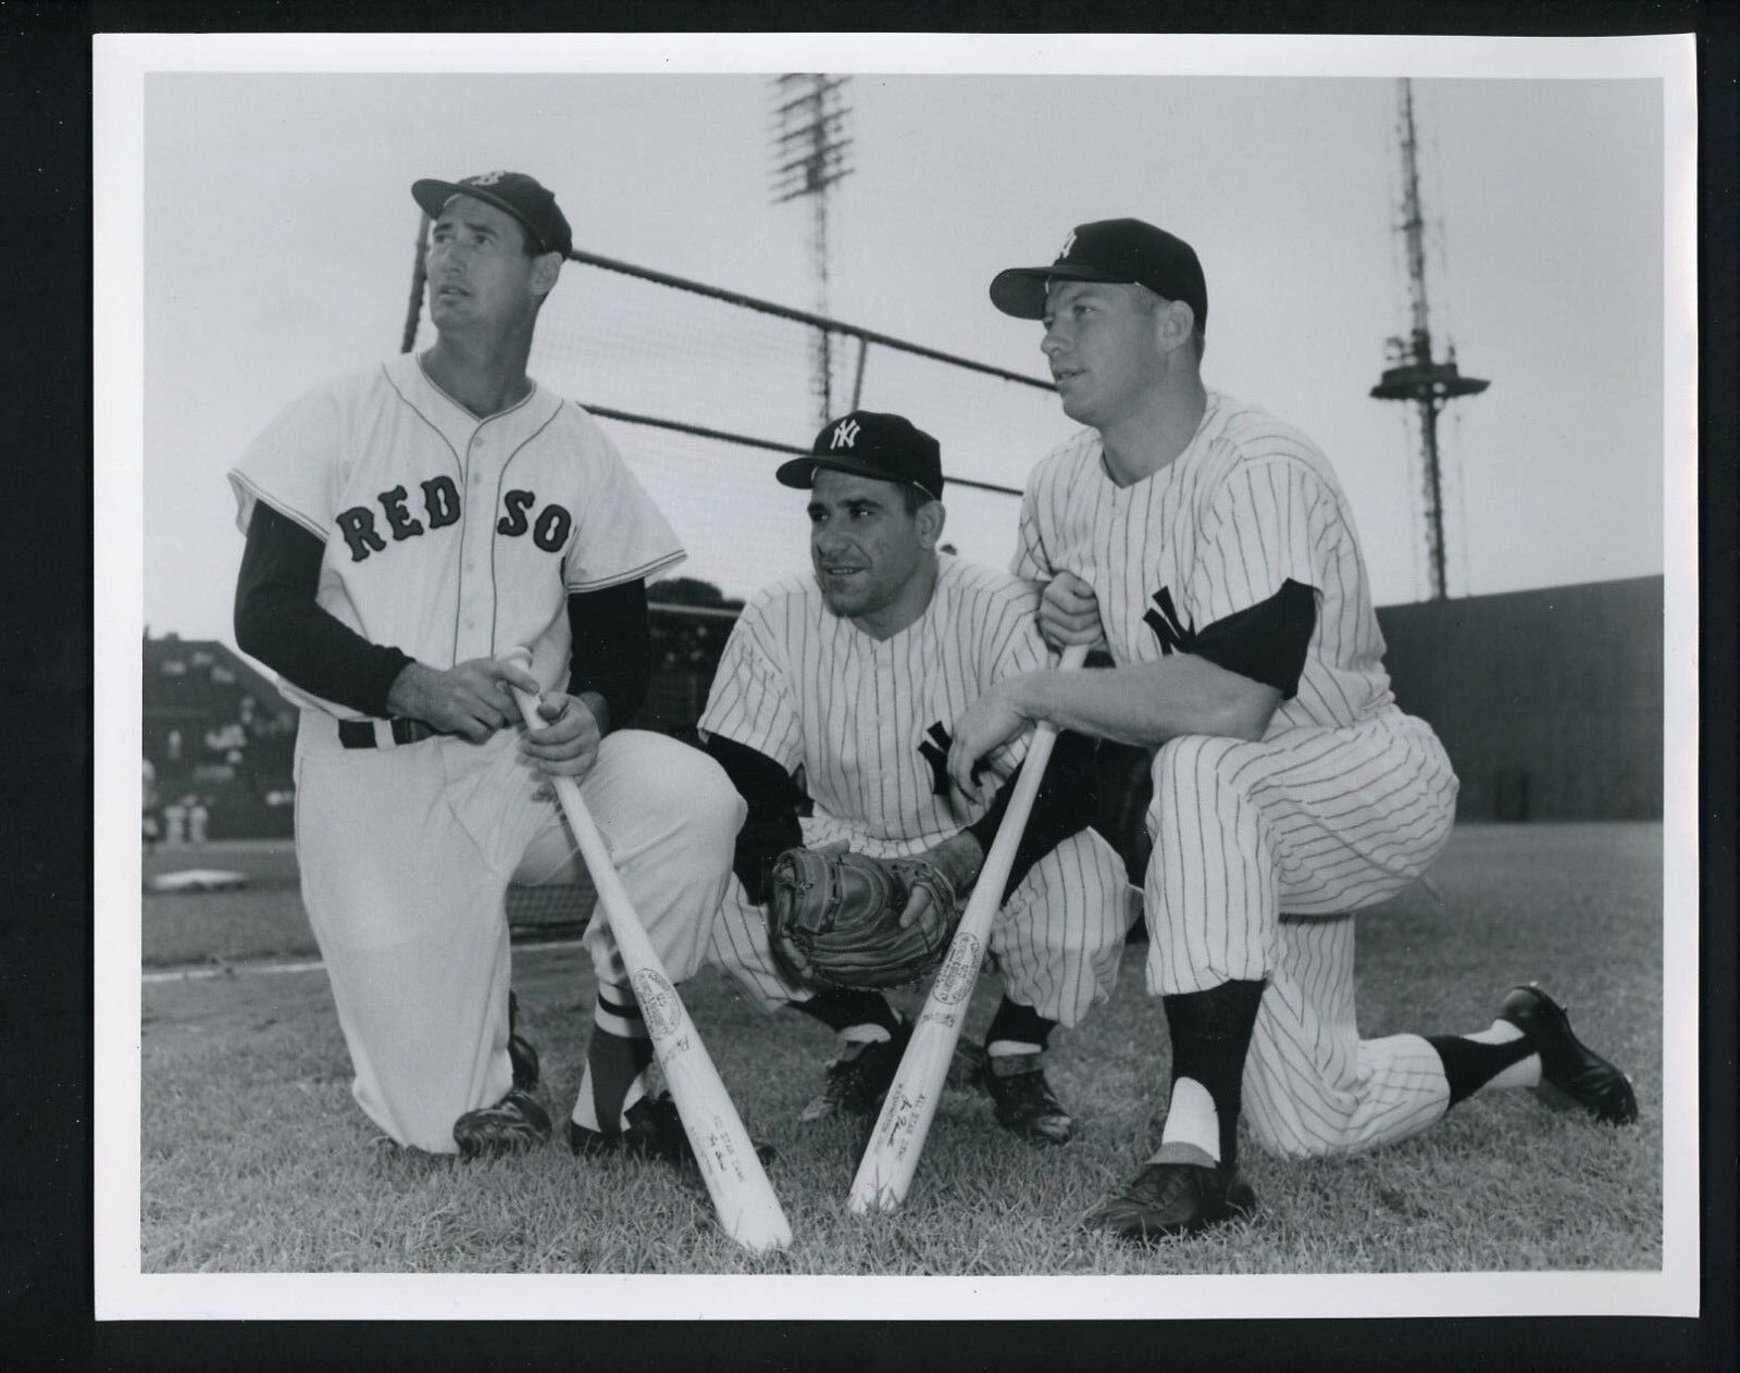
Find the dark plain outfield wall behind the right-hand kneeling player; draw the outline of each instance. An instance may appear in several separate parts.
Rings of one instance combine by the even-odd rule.
[[[1387,606],[1402,710],[1462,778],[1463,820],[1662,814],[1662,578]]]

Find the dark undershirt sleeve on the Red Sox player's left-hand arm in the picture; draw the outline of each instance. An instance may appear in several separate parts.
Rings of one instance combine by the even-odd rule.
[[[412,660],[315,604],[324,553],[318,538],[256,503],[235,586],[235,642],[303,691],[385,717],[386,693]]]

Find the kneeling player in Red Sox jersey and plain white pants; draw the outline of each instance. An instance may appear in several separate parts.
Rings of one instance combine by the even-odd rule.
[[[579,861],[569,774],[665,968],[689,976],[743,802],[699,750],[625,731],[646,693],[646,579],[670,526],[579,405],[525,376],[571,249],[519,172],[418,181],[437,343],[289,405],[230,473],[247,550],[237,642],[301,705],[296,851],[353,1095],[392,1140],[489,1155],[550,1138],[515,1034],[503,894]],[[532,651],[531,672],[503,661]],[[508,686],[541,691],[527,731]],[[576,1154],[680,1161],[651,1039],[604,921],[567,1129]]]

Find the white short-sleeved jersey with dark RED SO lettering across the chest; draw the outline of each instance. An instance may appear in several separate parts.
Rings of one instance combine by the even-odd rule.
[[[684,553],[579,405],[532,386],[478,419],[405,353],[292,402],[230,472],[247,532],[266,501],[325,543],[317,604],[433,668],[532,647],[566,684],[567,595]],[[357,712],[282,682],[304,707]]]

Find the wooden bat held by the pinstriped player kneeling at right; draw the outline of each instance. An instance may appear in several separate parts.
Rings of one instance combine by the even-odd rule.
[[[1086,656],[1086,644],[1072,644],[1063,649],[1058,666],[1072,672]],[[912,1187],[912,1175],[919,1169],[919,1155],[924,1152],[924,1140],[931,1133],[936,1103],[943,1095],[943,1081],[948,1077],[948,1063],[960,1039],[967,1001],[985,962],[985,940],[1002,908],[1002,887],[1009,881],[1009,868],[1014,867],[1014,849],[1021,842],[1056,738],[1058,731],[1051,724],[1034,727],[1034,743],[1009,795],[1009,809],[1004,811],[997,837],[985,854],[985,867],[980,868],[973,896],[955,928],[955,938],[948,943],[943,966],[936,971],[936,981],[931,983],[912,1041],[882,1100],[882,1114],[877,1115],[870,1143],[858,1162],[851,1194],[856,1215],[872,1206],[893,1211],[907,1199],[907,1190]]]

